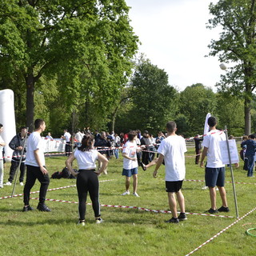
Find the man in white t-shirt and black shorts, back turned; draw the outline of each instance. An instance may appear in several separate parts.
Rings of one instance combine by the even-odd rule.
[[[177,126],[175,122],[167,122],[166,130],[168,137],[162,140],[158,147],[159,158],[154,169],[153,177],[157,177],[158,169],[164,160],[166,169],[166,192],[168,193],[170,211],[173,215],[173,217],[166,222],[178,223],[187,219],[185,214],[185,199],[181,190],[182,182],[186,174],[184,155],[186,152],[186,142],[182,136],[176,134]],[[177,213],[175,194],[181,210],[179,215]]]

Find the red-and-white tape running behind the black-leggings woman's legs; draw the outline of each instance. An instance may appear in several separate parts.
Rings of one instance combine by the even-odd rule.
[[[39,198],[30,198],[38,200]],[[69,202],[69,203],[78,203],[78,202],[71,202],[66,200],[59,200],[59,199],[49,199],[46,198],[46,201],[50,202]],[[86,202],[86,205],[91,206],[92,204],[90,202]],[[170,210],[151,210],[144,207],[137,207],[137,206],[114,206],[114,205],[101,205],[102,207],[111,207],[111,208],[126,208],[126,209],[137,209],[137,210],[145,210],[157,214],[171,214]],[[220,217],[220,218],[234,218],[232,216],[224,216],[224,215],[214,215],[214,214],[196,214],[196,213],[186,213],[191,215],[201,215],[201,216],[210,216],[210,217]]]

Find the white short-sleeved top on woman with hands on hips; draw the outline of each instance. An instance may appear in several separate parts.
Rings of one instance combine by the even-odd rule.
[[[79,170],[91,170],[96,168],[95,161],[98,159],[97,150],[74,151],[74,158],[77,159]]]

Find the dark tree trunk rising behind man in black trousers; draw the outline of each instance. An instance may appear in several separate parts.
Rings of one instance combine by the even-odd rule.
[[[26,127],[29,131],[34,130],[34,76],[28,74],[26,77]]]

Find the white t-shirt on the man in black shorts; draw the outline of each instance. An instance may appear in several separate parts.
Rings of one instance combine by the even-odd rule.
[[[182,181],[185,178],[186,142],[181,136],[169,136],[162,140],[158,153],[165,159],[166,182]]]

